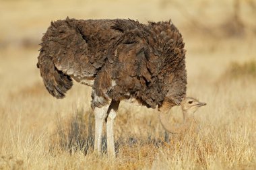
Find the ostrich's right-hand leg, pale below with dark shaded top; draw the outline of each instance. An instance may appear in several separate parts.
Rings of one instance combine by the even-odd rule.
[[[111,101],[106,118],[106,136],[108,144],[108,156],[115,157],[114,122],[117,116],[120,101]]]

